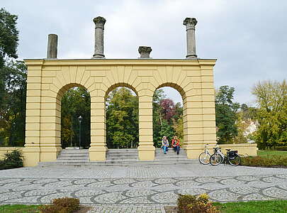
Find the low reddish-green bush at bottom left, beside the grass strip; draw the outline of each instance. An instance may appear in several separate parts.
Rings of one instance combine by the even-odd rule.
[[[41,213],[72,213],[79,209],[79,199],[63,197],[52,200],[52,204],[39,207]]]

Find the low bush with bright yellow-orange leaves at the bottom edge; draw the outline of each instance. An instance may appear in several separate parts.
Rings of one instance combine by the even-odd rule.
[[[179,213],[219,213],[208,200],[208,195],[179,195],[177,200]]]

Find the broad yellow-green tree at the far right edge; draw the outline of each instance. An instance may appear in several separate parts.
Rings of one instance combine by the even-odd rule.
[[[287,145],[287,84],[258,82],[252,89],[257,97],[259,129],[256,141],[259,148]]]

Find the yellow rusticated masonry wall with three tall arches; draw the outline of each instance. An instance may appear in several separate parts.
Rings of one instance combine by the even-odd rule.
[[[105,98],[125,86],[139,99],[140,160],[154,159],[152,96],[174,87],[184,101],[184,149],[198,158],[203,144],[215,144],[215,60],[25,60],[28,65],[25,165],[52,161],[60,152],[61,98],[85,87],[91,95],[90,160],[106,160]]]

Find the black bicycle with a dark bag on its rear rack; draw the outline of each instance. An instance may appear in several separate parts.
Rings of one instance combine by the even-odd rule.
[[[210,164],[211,165],[218,165],[220,163],[230,163],[230,165],[240,165],[240,155],[238,155],[238,151],[230,151],[230,148],[225,149],[226,155],[224,157],[220,155],[219,152],[214,153],[210,156]]]

